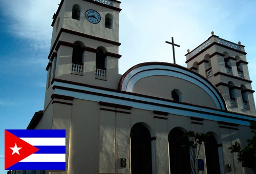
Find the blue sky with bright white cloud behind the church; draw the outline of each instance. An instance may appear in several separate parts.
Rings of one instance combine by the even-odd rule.
[[[60,0],[0,0],[0,173],[4,170],[4,129],[26,129],[43,110],[52,16]],[[215,35],[246,46],[252,89],[256,89],[256,1],[123,0],[119,18],[119,74],[148,61],[186,67],[193,50]],[[255,97],[255,96],[254,96]],[[2,170],[2,171],[1,171]]]

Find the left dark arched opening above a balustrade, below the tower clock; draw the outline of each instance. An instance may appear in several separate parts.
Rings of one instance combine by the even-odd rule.
[[[82,64],[84,44],[81,41],[75,41],[74,44],[76,44],[76,46],[73,48],[72,63]]]

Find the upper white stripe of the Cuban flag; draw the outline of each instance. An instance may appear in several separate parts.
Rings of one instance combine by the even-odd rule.
[[[65,146],[66,138],[20,138],[33,146]]]

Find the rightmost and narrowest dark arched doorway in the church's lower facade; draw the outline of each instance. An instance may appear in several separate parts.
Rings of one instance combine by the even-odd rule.
[[[207,174],[220,174],[218,144],[215,137],[212,134],[209,134],[209,137],[207,137],[204,147]]]

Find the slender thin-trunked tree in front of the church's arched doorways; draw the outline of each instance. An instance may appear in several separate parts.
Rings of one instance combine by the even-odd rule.
[[[209,136],[208,133],[195,133],[194,131],[189,130],[183,134],[183,139],[185,140],[185,144],[182,147],[189,147],[190,156],[190,165],[191,165],[191,173],[199,173],[199,170],[196,168],[196,162],[200,153],[201,145],[203,142],[206,141],[207,137]]]

